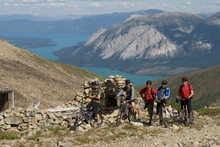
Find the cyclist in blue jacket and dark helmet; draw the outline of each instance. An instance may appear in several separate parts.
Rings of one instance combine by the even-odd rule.
[[[162,85],[157,90],[156,100],[157,100],[157,114],[159,114],[160,122],[162,125],[162,106],[166,104],[166,100],[170,97],[170,88],[167,87],[167,81],[163,80]]]

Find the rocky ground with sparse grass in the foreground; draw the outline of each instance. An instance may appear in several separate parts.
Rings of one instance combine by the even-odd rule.
[[[147,126],[125,121],[119,127],[115,123],[101,128],[80,127],[79,132],[66,128],[42,128],[35,132],[1,132],[0,146],[220,146],[220,109],[204,109],[195,122],[186,127],[172,124],[169,128],[158,126],[158,120]],[[207,113],[208,112],[208,113]],[[137,126],[139,125],[139,126]]]

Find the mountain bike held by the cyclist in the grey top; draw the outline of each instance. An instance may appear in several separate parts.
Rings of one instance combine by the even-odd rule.
[[[121,98],[118,115],[116,119],[116,126],[118,127],[121,124],[122,119],[124,120],[128,119],[128,121],[130,122],[132,118],[134,118],[134,113],[131,107],[131,100],[126,100]]]

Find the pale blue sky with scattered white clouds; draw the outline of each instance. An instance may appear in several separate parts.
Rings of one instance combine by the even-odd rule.
[[[159,9],[189,13],[220,11],[219,0],[0,0],[0,15],[97,15]]]

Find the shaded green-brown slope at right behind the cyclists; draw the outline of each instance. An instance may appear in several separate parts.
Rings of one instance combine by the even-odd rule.
[[[195,94],[192,100],[192,107],[194,109],[203,108],[204,106],[208,107],[220,105],[220,66],[155,80],[152,82],[152,87],[157,90],[157,88],[161,85],[161,81],[167,80],[168,87],[171,90],[171,97],[174,101],[176,99],[179,86],[182,84],[182,77],[187,77],[188,83],[191,84],[194,89]],[[139,85],[136,86],[135,89],[139,91],[145,86],[145,84]]]

